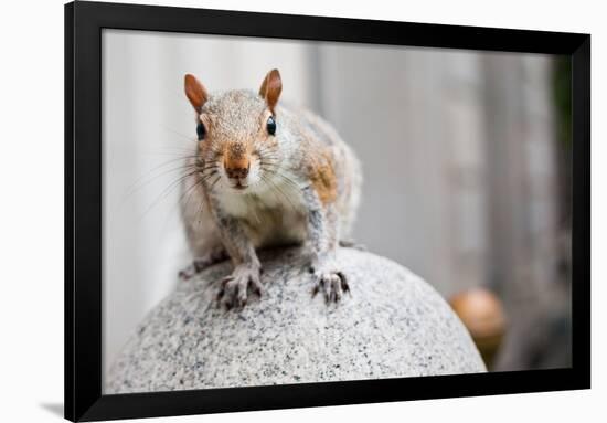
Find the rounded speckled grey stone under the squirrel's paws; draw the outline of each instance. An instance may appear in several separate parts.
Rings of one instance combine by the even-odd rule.
[[[351,295],[311,297],[297,248],[260,254],[266,292],[241,310],[216,306],[227,262],[181,282],[110,367],[106,393],[171,391],[486,371],[446,302],[396,263],[342,248]],[[285,264],[286,263],[286,264]]]

